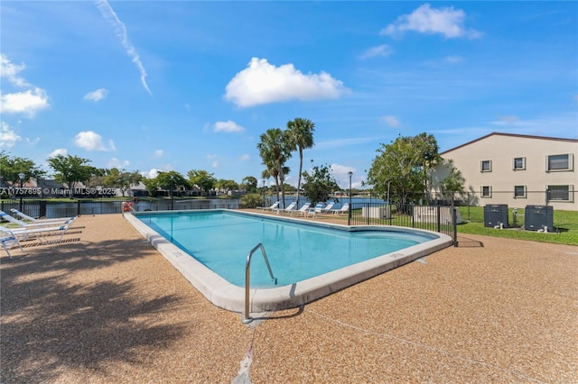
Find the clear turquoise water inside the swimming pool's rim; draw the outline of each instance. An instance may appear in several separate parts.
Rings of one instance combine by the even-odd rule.
[[[138,219],[238,287],[245,287],[247,253],[259,242],[265,246],[277,286],[256,251],[251,287],[274,288],[435,238],[406,231],[350,232],[226,211],[139,215]]]

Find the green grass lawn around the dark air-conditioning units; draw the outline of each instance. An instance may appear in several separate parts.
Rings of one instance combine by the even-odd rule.
[[[534,242],[554,242],[578,245],[578,212],[554,210],[554,233],[538,233],[521,229],[524,224],[524,210],[517,210],[517,226],[510,229],[494,229],[484,226],[483,206],[461,206],[460,215],[464,224],[458,225],[458,233],[483,234],[508,239],[531,240]],[[508,209],[508,222],[513,226],[513,209]]]

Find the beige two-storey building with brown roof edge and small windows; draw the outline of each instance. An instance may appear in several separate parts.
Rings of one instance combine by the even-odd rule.
[[[441,153],[461,171],[470,193],[460,199],[471,205],[547,204],[564,211],[578,210],[577,154],[575,139],[511,133],[490,133]],[[447,167],[433,171],[433,193],[447,175]]]

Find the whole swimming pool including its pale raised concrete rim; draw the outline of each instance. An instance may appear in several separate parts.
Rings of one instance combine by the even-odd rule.
[[[313,223],[231,210],[126,215],[213,304],[242,312],[247,253],[251,311],[301,306],[452,244],[449,236],[398,227]]]

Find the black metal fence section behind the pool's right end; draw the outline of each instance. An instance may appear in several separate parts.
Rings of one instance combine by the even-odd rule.
[[[454,206],[413,204],[352,203],[350,225],[396,225],[424,229],[451,236],[457,246],[460,211]]]

